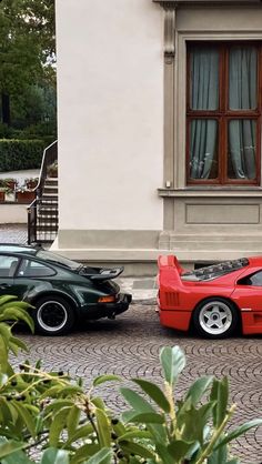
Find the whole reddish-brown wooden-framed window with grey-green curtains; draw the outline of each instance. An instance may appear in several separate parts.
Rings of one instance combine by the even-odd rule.
[[[261,43],[188,44],[188,184],[258,185]]]

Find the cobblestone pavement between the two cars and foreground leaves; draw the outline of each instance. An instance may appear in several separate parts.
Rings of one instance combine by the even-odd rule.
[[[200,340],[160,326],[153,305],[133,304],[115,321],[100,320],[63,337],[32,336],[20,332],[31,346],[31,361],[43,360],[48,370],[64,370],[84,379],[85,385],[102,373],[125,379],[147,376],[161,385],[159,350],[179,344],[187,354],[177,397],[199,375],[229,375],[231,401],[238,403],[234,424],[262,417],[261,336],[225,341]],[[109,384],[108,384],[109,385]],[[108,405],[118,411],[123,405],[117,385],[99,390]],[[244,464],[262,463],[262,427],[240,437],[233,447]]]

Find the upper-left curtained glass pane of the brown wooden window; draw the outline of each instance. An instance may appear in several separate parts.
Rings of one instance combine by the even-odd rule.
[[[190,52],[192,110],[219,108],[219,51],[214,47],[198,46]]]

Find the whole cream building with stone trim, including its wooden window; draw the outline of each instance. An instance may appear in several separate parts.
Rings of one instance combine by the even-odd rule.
[[[262,3],[57,0],[61,253],[262,252]]]

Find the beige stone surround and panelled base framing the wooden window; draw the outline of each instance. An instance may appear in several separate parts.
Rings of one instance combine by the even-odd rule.
[[[165,78],[165,101],[173,101],[173,119],[165,124],[164,184],[168,181],[171,186],[159,192],[164,201],[159,248],[185,262],[262,253],[261,185],[187,186],[185,181],[187,43],[261,41],[262,8],[181,7],[173,22],[174,59],[165,60],[165,77],[171,77]]]

